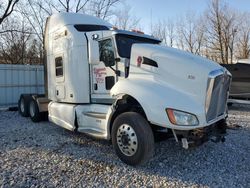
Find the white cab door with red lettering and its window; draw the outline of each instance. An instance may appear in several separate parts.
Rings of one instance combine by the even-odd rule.
[[[90,64],[91,75],[91,102],[112,103],[110,90],[117,81],[115,47],[112,37],[102,37],[95,32],[88,34],[89,42],[96,40],[99,47],[98,64]]]

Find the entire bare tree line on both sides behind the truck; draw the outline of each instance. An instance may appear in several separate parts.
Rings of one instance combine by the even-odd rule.
[[[42,64],[46,18],[55,12],[86,13],[119,29],[142,28],[140,18],[122,0],[4,0],[0,5],[0,63]],[[210,0],[202,14],[152,23],[151,34],[163,45],[218,63],[250,58],[249,12],[237,12],[222,0]]]

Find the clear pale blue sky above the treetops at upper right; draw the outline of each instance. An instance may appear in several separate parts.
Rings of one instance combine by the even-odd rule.
[[[155,23],[159,19],[178,19],[188,11],[199,14],[207,8],[208,2],[209,0],[126,0],[132,8],[131,13],[141,18],[141,26],[147,33],[150,31],[151,18]],[[250,0],[224,0],[224,2],[239,11],[250,12]]]

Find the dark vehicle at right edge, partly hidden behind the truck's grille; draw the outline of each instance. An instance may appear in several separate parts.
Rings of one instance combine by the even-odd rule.
[[[222,64],[232,74],[231,99],[250,99],[250,59],[238,60],[236,64]]]

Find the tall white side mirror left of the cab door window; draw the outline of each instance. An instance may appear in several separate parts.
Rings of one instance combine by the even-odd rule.
[[[89,41],[89,64],[98,65],[100,63],[99,44],[96,40]]]

